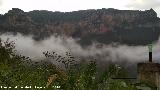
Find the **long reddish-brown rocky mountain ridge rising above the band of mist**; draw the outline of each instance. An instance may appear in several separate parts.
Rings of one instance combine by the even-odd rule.
[[[93,41],[109,44],[145,45],[160,36],[160,18],[153,10],[90,9],[73,12],[13,8],[0,15],[0,32],[32,34],[35,40],[51,35],[80,38],[81,45]]]

